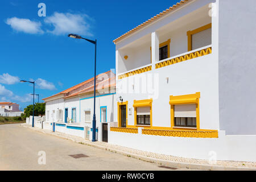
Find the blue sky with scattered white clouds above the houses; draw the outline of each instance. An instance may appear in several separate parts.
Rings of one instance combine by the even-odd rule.
[[[41,2],[46,17],[38,16]],[[32,85],[19,80],[35,80],[41,99],[93,77],[94,46],[68,38],[69,33],[97,39],[97,74],[115,68],[112,41],[176,2],[1,1],[0,101],[22,109],[32,103]]]

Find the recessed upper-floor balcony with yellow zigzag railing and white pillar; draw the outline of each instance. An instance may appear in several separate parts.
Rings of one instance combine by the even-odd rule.
[[[217,38],[208,13],[209,7],[203,6],[124,40],[116,51],[118,79],[211,54],[212,40]]]

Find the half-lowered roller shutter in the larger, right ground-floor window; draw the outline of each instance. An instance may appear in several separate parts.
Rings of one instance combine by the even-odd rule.
[[[184,104],[174,106],[174,117],[196,118],[196,104]]]

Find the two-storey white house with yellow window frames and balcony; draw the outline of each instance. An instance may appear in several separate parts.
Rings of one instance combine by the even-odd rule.
[[[181,1],[115,39],[109,143],[256,162],[255,5]]]

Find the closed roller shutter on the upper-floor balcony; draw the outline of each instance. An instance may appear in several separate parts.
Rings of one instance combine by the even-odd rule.
[[[212,28],[192,35],[192,50],[212,44]]]

